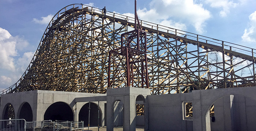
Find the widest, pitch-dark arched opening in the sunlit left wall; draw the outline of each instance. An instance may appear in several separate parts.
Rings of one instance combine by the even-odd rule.
[[[44,120],[73,121],[74,113],[68,104],[64,102],[56,102],[46,109],[44,114]]]

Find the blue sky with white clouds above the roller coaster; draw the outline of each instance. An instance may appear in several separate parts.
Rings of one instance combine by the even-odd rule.
[[[1,0],[0,90],[31,61],[51,17],[83,3],[132,15],[134,0]],[[139,18],[256,49],[256,0],[137,0]]]

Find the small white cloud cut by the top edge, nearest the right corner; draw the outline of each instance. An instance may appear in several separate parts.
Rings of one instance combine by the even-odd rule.
[[[226,17],[230,13],[230,8],[236,8],[238,5],[243,4],[245,0],[206,0],[207,4],[210,4],[213,8],[222,8],[219,12],[221,17]]]

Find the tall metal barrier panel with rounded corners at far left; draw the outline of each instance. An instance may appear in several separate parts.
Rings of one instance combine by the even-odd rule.
[[[26,131],[25,119],[0,120],[0,131]]]

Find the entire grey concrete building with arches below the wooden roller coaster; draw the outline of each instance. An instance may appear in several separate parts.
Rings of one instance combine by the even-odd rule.
[[[150,89],[114,88],[107,94],[33,90],[1,95],[0,117],[6,118],[12,105],[15,119],[74,120],[113,131],[135,131],[144,125],[147,131],[254,131],[256,121],[256,87],[193,90],[192,93],[150,95]],[[98,104],[99,103],[99,104]],[[136,116],[136,104],[144,104],[144,116]],[[186,115],[186,103],[192,103],[192,116]],[[213,122],[210,107],[214,104]]]

